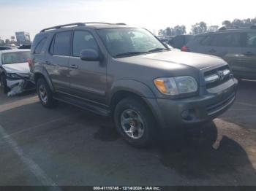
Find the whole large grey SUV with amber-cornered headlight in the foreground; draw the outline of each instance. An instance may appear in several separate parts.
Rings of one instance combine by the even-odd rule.
[[[137,147],[158,130],[212,120],[236,98],[237,80],[221,58],[171,51],[146,29],[124,24],[45,28],[29,65],[43,106],[59,100],[113,117]]]

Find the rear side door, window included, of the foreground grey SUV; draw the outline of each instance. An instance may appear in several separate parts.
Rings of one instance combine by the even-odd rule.
[[[45,56],[45,68],[56,91],[69,92],[69,57],[71,51],[71,31],[56,33]]]

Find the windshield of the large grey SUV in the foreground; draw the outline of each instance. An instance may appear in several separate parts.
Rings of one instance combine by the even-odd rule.
[[[113,57],[167,50],[150,32],[141,28],[105,28],[98,34]]]

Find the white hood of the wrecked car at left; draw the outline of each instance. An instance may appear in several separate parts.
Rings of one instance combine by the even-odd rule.
[[[3,64],[1,67],[3,67],[7,73],[29,74],[29,63],[9,63]]]

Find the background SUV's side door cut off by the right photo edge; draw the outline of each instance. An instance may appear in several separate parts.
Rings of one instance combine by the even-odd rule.
[[[256,79],[256,31],[243,33],[244,44],[242,47],[243,77]]]

